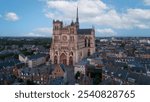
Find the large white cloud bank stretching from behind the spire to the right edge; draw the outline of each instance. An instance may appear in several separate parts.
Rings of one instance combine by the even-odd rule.
[[[46,3],[45,16],[50,19],[75,20],[76,7],[78,5],[81,23],[90,23],[115,29],[150,28],[150,10],[148,9],[129,8],[126,12],[120,13],[101,0],[78,0],[78,2],[46,0]]]

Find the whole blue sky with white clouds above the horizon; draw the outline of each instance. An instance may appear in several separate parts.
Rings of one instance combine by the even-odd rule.
[[[150,0],[0,0],[0,36],[52,35],[52,21],[95,27],[96,36],[150,37]]]

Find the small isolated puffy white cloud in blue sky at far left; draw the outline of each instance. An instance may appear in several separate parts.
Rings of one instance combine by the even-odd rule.
[[[19,17],[16,13],[14,12],[8,12],[6,15],[5,15],[5,19],[8,20],[8,21],[17,21],[19,20]]]

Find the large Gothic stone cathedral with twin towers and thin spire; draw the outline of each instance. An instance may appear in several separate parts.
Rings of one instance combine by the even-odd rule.
[[[95,30],[81,29],[78,18],[70,25],[53,20],[53,35],[50,48],[52,64],[74,65],[95,52]]]

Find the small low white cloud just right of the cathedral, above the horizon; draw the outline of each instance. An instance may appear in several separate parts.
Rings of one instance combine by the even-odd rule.
[[[111,28],[105,28],[105,29],[96,29],[98,36],[108,37],[108,36],[116,36],[117,33],[112,30]]]

